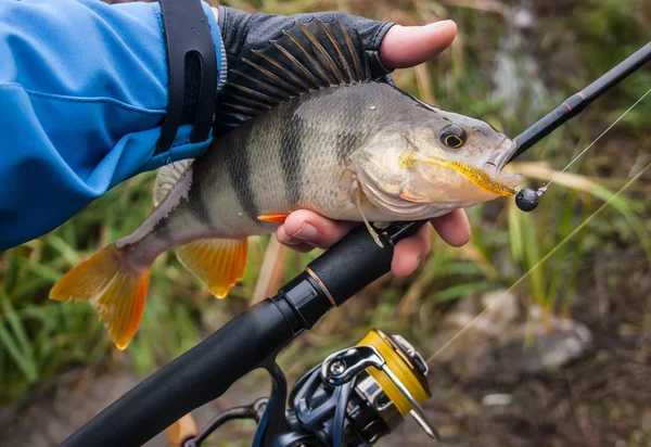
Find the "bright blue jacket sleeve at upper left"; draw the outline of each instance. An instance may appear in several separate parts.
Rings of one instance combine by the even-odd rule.
[[[0,2],[0,250],[56,228],[136,174],[207,149],[212,138],[190,144],[183,126],[169,152],[153,155],[166,58],[158,3]]]

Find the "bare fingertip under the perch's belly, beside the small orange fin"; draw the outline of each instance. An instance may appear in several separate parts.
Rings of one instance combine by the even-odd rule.
[[[301,209],[290,214],[284,224],[276,230],[276,238],[281,244],[298,251],[304,251],[306,245],[327,248],[339,242],[354,225]]]

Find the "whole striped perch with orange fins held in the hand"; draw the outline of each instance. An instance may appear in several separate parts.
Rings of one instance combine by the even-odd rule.
[[[153,213],[66,273],[50,297],[90,303],[124,349],[150,267],[171,247],[224,297],[243,278],[246,238],[275,232],[293,210],[368,226],[513,195],[520,176],[501,174],[512,140],[373,80],[360,48],[337,22],[297,22],[232,67],[219,122],[243,124],[194,161],[161,168]]]

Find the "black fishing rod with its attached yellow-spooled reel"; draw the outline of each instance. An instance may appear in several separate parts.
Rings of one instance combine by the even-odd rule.
[[[650,59],[651,43],[532,125],[515,138],[519,149],[508,163]],[[545,190],[546,187],[538,191],[521,190],[515,197],[518,206],[523,210],[534,209]],[[425,224],[373,227],[385,242],[382,247],[363,226],[353,230],[277,295],[233,318],[150,375],[61,445],[142,445],[192,410],[220,397],[255,369],[269,372],[272,388],[268,399],[227,410],[179,444],[196,447],[225,421],[242,418],[258,423],[253,442],[256,447],[366,446],[391,433],[407,414],[430,437],[437,438],[436,430],[420,407],[430,396],[426,363],[399,337],[372,331],[357,346],[329,356],[299,379],[291,393],[276,362],[285,346],[311,329],[330,309],[342,306],[387,273],[395,244]],[[290,407],[285,408],[288,398]]]

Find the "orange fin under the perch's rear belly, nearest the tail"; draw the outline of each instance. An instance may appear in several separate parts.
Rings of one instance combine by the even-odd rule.
[[[244,278],[248,244],[245,239],[200,239],[177,248],[177,257],[218,298]]]

